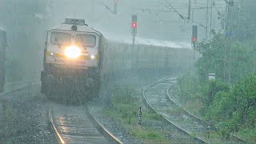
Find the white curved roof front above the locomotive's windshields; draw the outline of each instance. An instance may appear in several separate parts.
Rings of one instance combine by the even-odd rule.
[[[70,25],[70,24],[65,24],[63,23],[62,25],[60,26],[55,26],[53,27],[52,29],[50,30],[69,30],[71,31],[71,27],[74,26],[74,25]],[[98,32],[97,30],[94,30],[92,28],[90,28],[89,26],[86,26],[86,25],[83,25],[83,26],[80,26],[80,25],[75,25],[77,26],[77,30],[76,31],[83,31],[83,32],[88,32],[88,33],[96,33],[96,34],[100,34],[102,35],[100,32]]]

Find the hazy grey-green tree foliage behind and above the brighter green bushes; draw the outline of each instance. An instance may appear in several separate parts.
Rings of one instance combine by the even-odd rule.
[[[205,81],[208,74],[215,73],[223,82],[237,82],[244,74],[255,70],[255,42],[238,42],[226,38],[223,34],[215,34],[210,43],[200,42],[198,52],[202,54],[196,62],[199,80]]]

